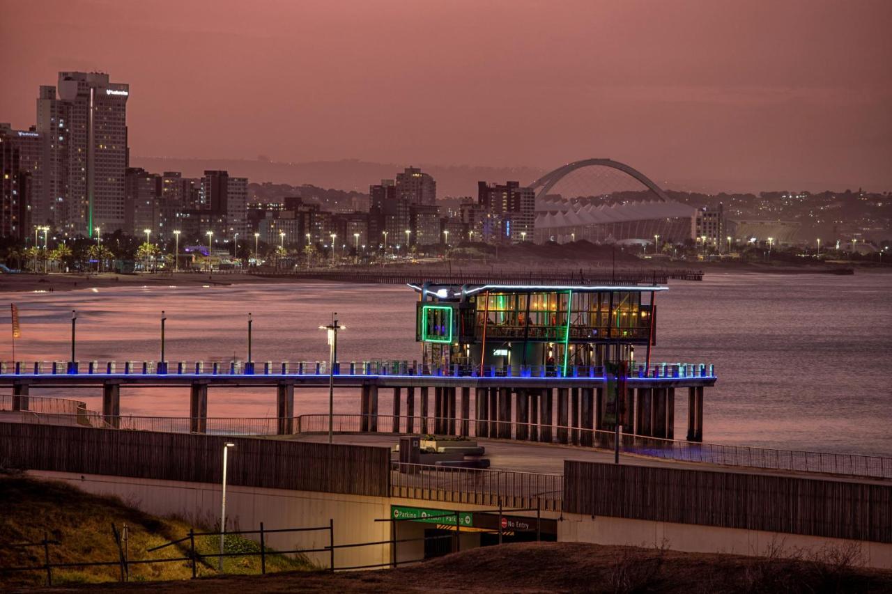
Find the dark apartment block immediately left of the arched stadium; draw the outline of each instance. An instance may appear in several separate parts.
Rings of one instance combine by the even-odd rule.
[[[486,242],[533,241],[536,194],[518,182],[505,185],[477,183],[475,234]]]

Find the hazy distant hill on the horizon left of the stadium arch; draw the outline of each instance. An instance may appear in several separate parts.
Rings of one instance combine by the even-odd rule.
[[[334,188],[368,193],[368,186],[382,179],[392,179],[409,166],[420,167],[437,180],[437,196],[476,196],[478,181],[508,180],[522,184],[532,182],[546,173],[530,167],[500,168],[471,167],[468,165],[429,165],[425,163],[373,163],[347,159],[343,161],[312,161],[307,163],[278,163],[238,159],[177,159],[172,157],[131,157],[133,167],[161,173],[182,171],[184,176],[198,177],[204,169],[227,169],[230,175],[247,177],[252,182],[272,182]]]

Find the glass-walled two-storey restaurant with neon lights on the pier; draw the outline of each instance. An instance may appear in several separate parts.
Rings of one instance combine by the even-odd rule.
[[[550,375],[640,362],[656,338],[659,286],[410,285],[416,340],[434,367],[541,367]]]

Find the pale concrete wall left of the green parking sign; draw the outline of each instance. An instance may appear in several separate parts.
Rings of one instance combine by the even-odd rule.
[[[217,484],[50,471],[29,471],[28,474],[64,481],[90,493],[114,495],[128,505],[156,516],[181,516],[198,524],[219,524],[220,486]],[[227,526],[230,530],[257,530],[260,522],[264,530],[327,526],[331,518],[335,521],[335,545],[341,545],[389,540],[390,524],[375,522],[389,514],[389,498],[227,486]],[[282,532],[267,535],[266,542],[269,547],[279,550],[320,549],[328,546],[328,538],[327,530]],[[320,566],[329,565],[327,551],[307,557]],[[389,544],[335,549],[335,568],[390,561]]]

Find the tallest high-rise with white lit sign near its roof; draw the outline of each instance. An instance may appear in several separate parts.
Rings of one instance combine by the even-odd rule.
[[[90,235],[95,227],[111,232],[124,226],[124,177],[128,167],[129,87],[101,72],[60,72],[59,98],[41,87],[38,130],[67,142],[68,183],[62,227],[70,235]],[[57,103],[62,100],[65,104]],[[41,122],[41,112],[49,120]],[[66,137],[67,136],[67,137]]]

